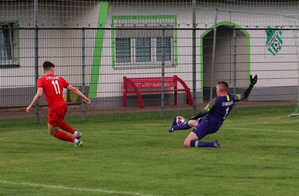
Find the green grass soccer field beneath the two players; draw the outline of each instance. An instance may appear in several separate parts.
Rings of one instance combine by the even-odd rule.
[[[191,129],[169,133],[170,119],[70,123],[82,148],[46,124],[1,126],[0,196],[298,194],[298,117],[230,114],[203,139],[222,149],[185,148]]]

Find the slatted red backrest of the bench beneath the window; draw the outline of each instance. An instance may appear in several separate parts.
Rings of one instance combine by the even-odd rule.
[[[137,88],[161,88],[162,78],[127,78],[124,77],[124,89],[132,89],[133,82]],[[177,80],[174,77],[164,77],[164,87],[177,87]]]

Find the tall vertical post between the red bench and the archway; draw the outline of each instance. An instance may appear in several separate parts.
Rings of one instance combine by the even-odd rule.
[[[193,0],[193,17],[192,17],[192,23],[193,23],[193,30],[192,30],[192,67],[193,67],[193,74],[192,74],[192,97],[193,97],[193,115],[196,115],[196,0]],[[202,49],[202,48],[201,48]],[[202,80],[202,78],[201,78]]]

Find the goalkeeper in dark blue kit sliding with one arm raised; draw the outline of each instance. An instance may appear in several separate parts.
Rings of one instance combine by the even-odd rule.
[[[232,110],[235,102],[246,99],[254,85],[258,81],[258,76],[252,78],[250,75],[250,85],[242,94],[228,94],[228,83],[225,81],[217,82],[217,97],[212,99],[210,103],[196,116],[189,118],[187,123],[175,125],[176,117],[171,120],[168,131],[171,133],[177,130],[186,130],[195,127],[193,131],[184,141],[185,147],[214,147],[221,148],[217,140],[214,142],[201,142],[200,140],[206,135],[215,133],[222,126],[227,115]],[[203,116],[206,117],[202,118]]]

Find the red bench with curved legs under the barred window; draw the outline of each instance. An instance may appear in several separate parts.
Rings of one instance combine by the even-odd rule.
[[[182,89],[177,88],[178,82],[183,86]],[[140,108],[144,108],[144,103],[141,93],[161,92],[162,78],[149,77],[149,78],[128,78],[124,76],[124,107],[127,106],[127,94],[136,94]],[[173,87],[173,89],[169,89]],[[159,88],[159,89],[154,89]],[[176,75],[172,77],[164,77],[164,92],[174,92],[174,105],[177,105],[177,92],[185,91],[188,97],[189,106],[193,105],[193,99],[190,89],[184,81]]]

